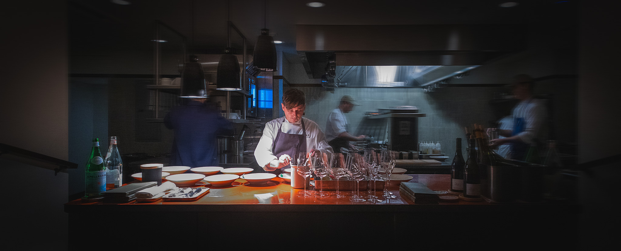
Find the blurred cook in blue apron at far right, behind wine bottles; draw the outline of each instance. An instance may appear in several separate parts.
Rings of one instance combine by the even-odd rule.
[[[504,157],[524,160],[528,146],[544,139],[546,120],[545,104],[541,99],[533,98],[533,79],[525,74],[514,77],[512,92],[519,103],[512,111],[513,124],[511,129],[499,129],[498,135],[505,138],[490,141],[491,147],[510,144],[509,153]]]

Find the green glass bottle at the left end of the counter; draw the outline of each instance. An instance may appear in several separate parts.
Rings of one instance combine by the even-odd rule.
[[[106,191],[106,167],[99,152],[99,139],[93,139],[93,149],[86,162],[84,176],[84,193],[86,198],[97,198]]]

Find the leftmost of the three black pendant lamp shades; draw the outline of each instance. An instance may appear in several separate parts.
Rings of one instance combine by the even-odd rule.
[[[181,72],[181,98],[207,98],[207,81],[201,63],[194,55],[189,56]]]

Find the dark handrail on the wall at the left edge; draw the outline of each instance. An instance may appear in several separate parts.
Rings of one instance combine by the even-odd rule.
[[[78,164],[61,160],[60,158],[54,158],[41,153],[32,152],[22,148],[14,147],[12,145],[0,143],[0,157],[9,160],[15,160],[20,163],[34,165],[35,167],[46,168],[54,171],[54,176],[58,175],[58,172],[62,171],[66,173],[66,169],[76,169]]]

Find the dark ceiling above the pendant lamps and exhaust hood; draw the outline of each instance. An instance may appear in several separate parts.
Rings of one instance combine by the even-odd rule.
[[[366,1],[332,0],[324,7],[308,7],[307,0],[70,0],[70,47],[75,54],[118,47],[152,50],[153,22],[160,20],[187,37],[189,52],[222,53],[227,45],[227,4],[230,21],[248,38],[252,50],[265,24],[276,45],[294,51],[296,24],[394,25],[394,24],[532,24],[551,12],[566,12],[574,1],[517,1],[516,7],[499,7],[505,1],[428,0]],[[558,15],[551,15],[556,16]],[[563,15],[561,15],[563,16]],[[564,15],[558,22],[574,22]],[[233,33],[233,47],[240,48]],[[192,47],[192,45],[194,45]]]

